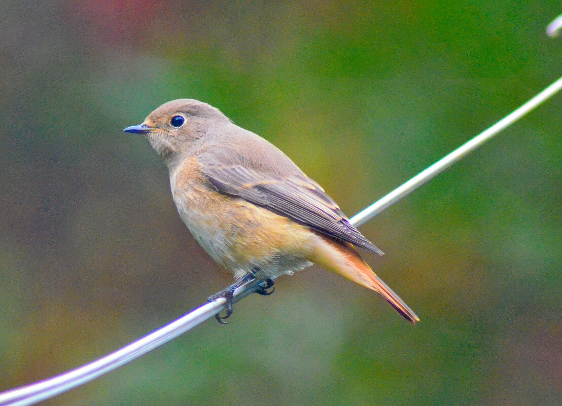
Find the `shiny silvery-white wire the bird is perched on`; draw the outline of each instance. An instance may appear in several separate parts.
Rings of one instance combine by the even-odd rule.
[[[423,172],[420,172],[419,175],[414,176],[411,180],[393,190],[382,199],[373,203],[357,215],[351,217],[350,222],[356,227],[363,225],[384,209],[392,206],[392,204],[398,202],[398,200],[404,198],[415,189],[427,183],[427,181],[432,179],[432,177],[438,175],[447,167],[465,157],[468,153],[472,152],[488,139],[492,138],[492,136],[519,120],[519,118],[533,110],[533,108],[537,107],[546,99],[550,98],[561,88],[562,77],[544,89],[541,93],[537,94],[527,103],[523,104],[523,106],[519,107],[513,113],[510,113],[510,115],[502,118],[502,120],[498,121],[487,130],[484,130],[481,134],[475,136],[475,138],[466,144],[457,148],[446,157],[439,159],[439,161],[428,167]],[[238,302],[246,296],[254,293],[257,290],[259,283],[259,281],[253,280],[242,285],[234,291],[233,301]],[[85,384],[88,381],[91,381],[141,357],[158,346],[173,340],[175,337],[184,334],[184,332],[191,330],[203,321],[215,316],[216,313],[224,310],[225,307],[226,300],[224,298],[219,298],[214,300],[214,302],[206,303],[180,317],[178,320],[161,327],[161,329],[153,331],[151,334],[124,346],[114,353],[99,358],[94,362],[85,364],[84,366],[72,369],[69,372],[62,373],[61,375],[48,378],[35,384],[6,391],[0,394],[0,406],[31,405],[70,390],[73,387]]]

